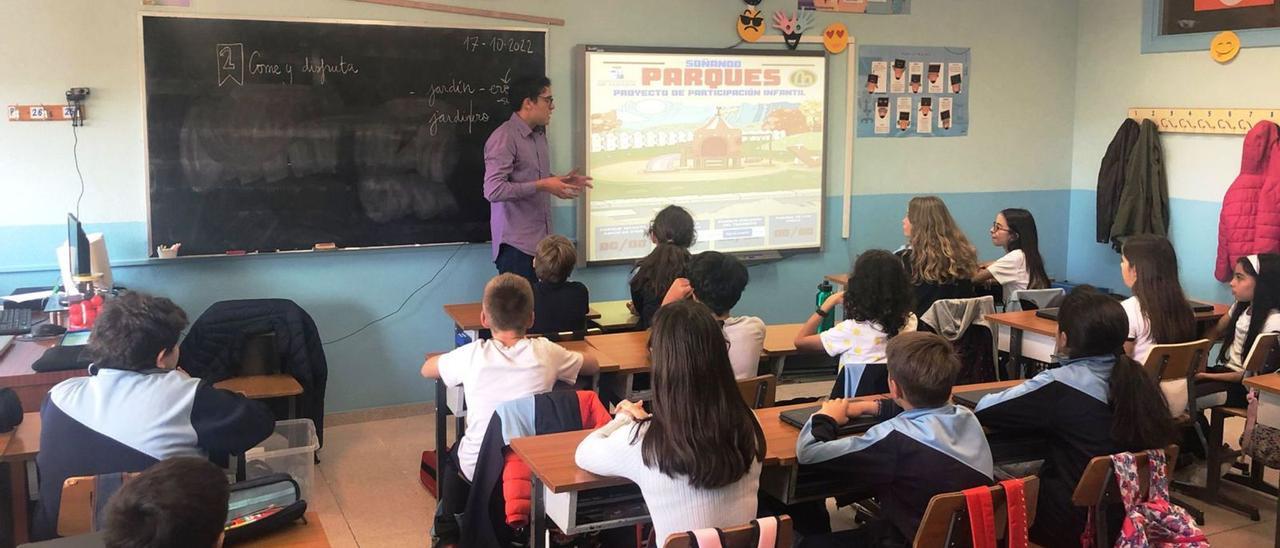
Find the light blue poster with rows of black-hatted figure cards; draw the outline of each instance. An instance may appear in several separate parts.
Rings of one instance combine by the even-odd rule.
[[[969,134],[968,47],[858,49],[858,137]]]

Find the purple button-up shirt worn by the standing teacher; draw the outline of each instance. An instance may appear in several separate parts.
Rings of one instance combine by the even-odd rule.
[[[484,145],[484,197],[489,200],[493,257],[506,243],[529,255],[552,232],[550,196],[538,179],[552,175],[547,129],[534,129],[517,114],[498,125]]]

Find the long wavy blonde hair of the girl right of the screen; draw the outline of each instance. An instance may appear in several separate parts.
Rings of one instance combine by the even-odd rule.
[[[908,247],[899,252],[915,286],[915,315],[934,301],[973,297],[978,250],[951,218],[937,196],[916,196],[906,206],[902,236]]]

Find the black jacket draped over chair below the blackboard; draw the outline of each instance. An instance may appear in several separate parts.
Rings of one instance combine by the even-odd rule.
[[[280,373],[302,385],[297,396],[301,419],[311,419],[324,444],[324,392],[329,365],[320,332],[302,307],[284,298],[220,301],[205,310],[182,341],[178,365],[192,376],[218,383],[236,376],[243,359],[244,339],[275,333]],[[276,416],[283,414],[278,412]]]

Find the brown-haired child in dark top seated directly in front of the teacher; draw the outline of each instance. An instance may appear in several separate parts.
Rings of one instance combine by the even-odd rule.
[[[530,333],[581,332],[586,329],[590,293],[581,282],[570,282],[577,252],[568,238],[552,234],[538,242],[534,255],[534,326]]]

